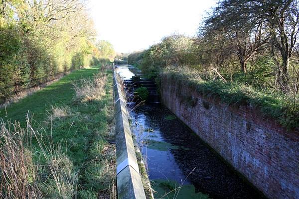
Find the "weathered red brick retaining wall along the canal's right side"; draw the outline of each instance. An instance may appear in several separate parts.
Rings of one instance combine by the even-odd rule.
[[[248,106],[207,99],[162,77],[161,100],[270,199],[299,199],[299,132]]]

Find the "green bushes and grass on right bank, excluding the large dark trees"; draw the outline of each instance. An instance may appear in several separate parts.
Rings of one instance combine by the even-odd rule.
[[[209,28],[213,29],[213,26]],[[200,31],[205,30],[203,28]],[[249,58],[247,56],[246,70],[240,70],[240,57],[237,57],[234,51],[239,49],[242,54],[242,49],[251,49],[248,46],[254,46],[254,42],[244,46],[242,42],[252,42],[245,38],[241,43],[234,43],[231,36],[236,36],[235,32],[226,36],[208,36],[199,34],[198,39],[192,39],[182,35],[170,35],[147,50],[130,54],[128,61],[157,83],[160,81],[157,75],[164,72],[175,81],[182,81],[195,88],[202,95],[217,96],[228,104],[257,107],[265,116],[275,118],[288,129],[298,128],[298,55],[294,54],[290,59],[288,84],[282,87],[279,80],[282,71],[277,67],[277,58],[267,50],[269,45],[263,43],[263,48],[260,48],[261,43],[257,39],[257,49],[244,52],[250,54]],[[266,41],[267,39],[263,40]],[[236,48],[237,45],[241,45],[240,48]],[[185,96],[184,100],[190,105],[197,103],[192,96]],[[205,106],[208,108],[207,104]]]

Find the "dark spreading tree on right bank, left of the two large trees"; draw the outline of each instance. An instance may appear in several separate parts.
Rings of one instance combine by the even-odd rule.
[[[247,72],[247,61],[260,51],[269,39],[264,21],[249,12],[252,5],[250,0],[221,1],[212,15],[206,18],[203,32],[199,33],[199,36],[209,41],[219,36],[229,40],[244,73]]]

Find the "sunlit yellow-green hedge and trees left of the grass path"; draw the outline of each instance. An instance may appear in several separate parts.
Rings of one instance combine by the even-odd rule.
[[[67,71],[111,59],[111,44],[95,43],[95,36],[84,1],[0,0],[0,103]]]

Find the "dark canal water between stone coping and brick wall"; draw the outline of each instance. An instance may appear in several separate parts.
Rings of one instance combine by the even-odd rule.
[[[141,76],[126,65],[118,73],[123,80]],[[130,103],[129,109],[156,199],[264,198],[162,104]]]

